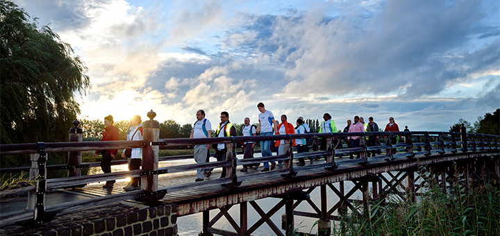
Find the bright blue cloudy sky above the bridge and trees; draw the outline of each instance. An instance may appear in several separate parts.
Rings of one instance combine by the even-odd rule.
[[[79,119],[254,123],[263,102],[447,131],[500,108],[497,0],[14,2],[88,67]]]

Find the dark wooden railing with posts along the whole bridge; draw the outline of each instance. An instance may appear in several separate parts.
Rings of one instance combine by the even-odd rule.
[[[113,141],[113,142],[81,142],[81,129],[77,126],[79,122],[74,122],[75,127],[70,130],[69,140],[76,142],[58,142],[58,143],[37,143],[37,144],[6,144],[0,145],[1,155],[13,154],[31,154],[32,166],[29,168],[31,178],[36,179],[36,186],[24,187],[22,189],[6,190],[2,194],[10,192],[25,191],[28,192],[28,204],[26,210],[17,212],[2,212],[0,216],[0,226],[10,224],[15,221],[32,219],[33,224],[40,224],[51,220],[51,217],[57,213],[72,212],[81,208],[99,203],[111,203],[114,201],[123,201],[126,199],[136,199],[138,201],[156,201],[162,199],[165,194],[183,191],[186,189],[198,189],[203,187],[222,185],[224,187],[238,187],[244,180],[266,179],[272,176],[283,176],[291,178],[297,175],[299,171],[308,169],[326,169],[335,171],[338,164],[335,162],[335,156],[349,155],[356,153],[358,159],[347,162],[358,162],[360,165],[369,164],[369,160],[383,158],[387,161],[394,160],[404,156],[414,158],[415,155],[433,155],[435,153],[454,153],[467,151],[499,150],[499,138],[495,135],[481,135],[465,133],[465,127],[462,133],[450,132],[431,132],[417,131],[410,132],[408,129],[402,132],[372,132],[372,133],[310,133],[300,135],[268,135],[252,137],[213,137],[201,139],[165,139],[159,140],[159,123],[153,118],[156,114],[149,112],[149,121],[144,121],[144,140],[142,141]],[[378,146],[367,146],[367,137],[378,136],[385,137],[385,142]],[[392,143],[390,137],[401,137],[401,142]],[[360,146],[347,149],[337,149],[333,146],[334,140],[343,138],[359,137]],[[294,139],[324,139],[326,148],[324,150],[313,151],[309,153],[294,153],[290,145]],[[285,152],[280,155],[270,157],[251,158],[238,160],[236,158],[235,147],[238,142],[260,142],[265,140],[285,140]],[[460,140],[460,141],[458,141]],[[175,165],[170,167],[158,167],[158,162],[178,160],[190,155],[159,158],[159,149],[168,149],[172,146],[201,145],[201,144],[226,144],[226,160],[217,162],[208,162],[204,164]],[[108,174],[95,174],[90,176],[81,176],[79,169],[84,167],[98,166],[97,162],[81,163],[81,151],[95,151],[108,149],[142,149],[142,169],[133,171],[117,171]],[[381,154],[368,158],[368,151],[379,151]],[[47,166],[47,153],[68,152],[68,165]],[[303,167],[294,167],[293,161],[297,158],[307,158],[323,156],[324,163],[307,165]],[[79,159],[78,159],[79,158]],[[283,161],[283,168],[274,171],[256,172],[254,174],[245,174],[238,176],[236,168],[241,165],[252,165],[261,162]],[[347,163],[342,162],[342,163]],[[126,160],[115,161],[114,164],[125,164]],[[67,178],[47,179],[47,170],[68,169]],[[173,174],[185,171],[195,171],[197,169],[208,168],[226,168],[226,178],[217,178],[214,180],[205,180],[194,183],[184,183],[168,187],[158,186],[158,175]],[[26,167],[24,167],[26,168]],[[18,169],[0,169],[1,173],[5,171],[15,171]],[[75,187],[87,185],[89,183],[103,182],[107,180],[116,180],[121,178],[141,178],[141,189],[133,192],[121,194],[112,194],[100,196],[81,201],[58,203],[56,205],[46,205],[45,197],[48,190],[60,189],[65,187]]]

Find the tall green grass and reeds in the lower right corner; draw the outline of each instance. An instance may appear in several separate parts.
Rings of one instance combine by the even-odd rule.
[[[466,189],[439,185],[418,203],[387,198],[362,205],[333,226],[332,235],[500,235],[500,190],[490,183]]]

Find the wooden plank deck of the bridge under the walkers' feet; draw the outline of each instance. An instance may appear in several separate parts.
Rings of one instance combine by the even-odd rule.
[[[399,157],[394,158],[393,161],[387,162],[383,159],[383,155],[375,159],[370,159],[369,165],[358,165],[358,160],[350,160],[349,158],[335,158],[338,169],[335,171],[328,171],[322,167],[315,169],[300,170],[299,167],[294,168],[299,172],[293,178],[283,178],[277,172],[283,167],[276,167],[274,172],[276,175],[269,178],[253,178],[244,180],[242,185],[237,188],[228,189],[219,185],[205,186],[197,189],[189,189],[185,191],[169,192],[163,198],[164,203],[176,203],[178,207],[178,216],[185,214],[194,214],[202,212],[203,210],[210,210],[220,208],[225,205],[233,205],[244,201],[254,201],[269,196],[278,196],[288,192],[299,191],[301,189],[308,189],[309,187],[316,187],[326,183],[335,183],[340,180],[350,180],[353,178],[360,178],[370,174],[378,174],[387,171],[394,171],[398,169],[406,169],[417,167],[418,165],[426,165],[436,162],[446,162],[450,160],[460,160],[466,158],[476,158],[484,156],[485,153],[449,153],[444,155],[432,155],[429,157],[417,156],[417,158]],[[498,155],[498,153],[491,153],[486,155]],[[306,162],[306,168],[310,164]],[[314,165],[322,165],[323,160],[315,161]],[[260,169],[262,169],[262,165]],[[244,173],[237,170],[237,175],[244,177],[251,174],[262,173],[260,169],[257,171],[249,169]],[[273,171],[267,172],[271,173]],[[220,176],[220,169],[215,169],[210,178],[205,178],[204,183],[213,180],[218,180]],[[196,175],[194,171],[183,172],[178,174],[163,174],[158,176],[158,185],[161,187],[169,187],[175,185],[195,183],[194,178]],[[199,183],[203,183],[199,182]],[[119,194],[124,192],[123,187],[126,182],[117,182],[113,189],[103,189],[103,183],[99,185],[88,185],[83,188],[75,189],[76,192],[85,194],[92,194],[94,196],[105,196],[109,194]]]

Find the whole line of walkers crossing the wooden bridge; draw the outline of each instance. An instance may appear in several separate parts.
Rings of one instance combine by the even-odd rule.
[[[244,126],[242,128],[243,136],[254,136],[260,133],[260,136],[266,135],[284,135],[284,134],[304,134],[310,133],[310,128],[308,124],[306,124],[303,120],[303,117],[299,117],[294,124],[288,122],[287,115],[281,115],[280,120],[281,123],[274,119],[274,115],[271,111],[265,110],[264,103],[258,103],[257,108],[259,110],[258,115],[258,126],[253,126],[250,123],[249,117],[244,119]],[[205,112],[203,110],[198,110],[196,113],[197,121],[194,122],[192,132],[190,133],[190,138],[207,138],[207,137],[229,137],[236,136],[236,129],[229,121],[228,112],[224,111],[220,114],[221,122],[215,129],[215,134],[212,134],[212,124],[205,117]],[[323,115],[324,121],[319,125],[319,133],[337,133],[337,126],[335,126],[335,121],[332,119],[331,115],[325,113]],[[344,132],[354,133],[354,132],[377,132],[378,125],[374,122],[373,117],[369,117],[369,122],[365,123],[363,117],[354,117],[354,123],[349,119],[347,120],[347,126],[344,128]],[[103,138],[101,141],[114,141],[118,140],[119,134],[118,129],[113,126],[113,117],[108,116],[104,118],[104,124],[106,126],[105,131],[103,132]],[[385,131],[399,131],[399,127],[396,123],[394,123],[394,118],[390,117],[389,124],[385,126]],[[142,140],[142,121],[139,115],[134,115],[131,118],[131,126],[128,127],[127,130],[127,140]],[[397,142],[396,137],[392,137],[391,142],[394,144]],[[375,135],[370,135],[367,139],[367,146],[375,146],[379,143],[379,137]],[[340,140],[333,140],[333,147],[337,148]],[[348,136],[347,137],[347,145],[350,148],[355,148],[360,146],[360,137],[359,136]],[[308,152],[308,142],[306,139],[296,139],[291,140],[292,146],[297,147],[297,153]],[[271,140],[260,141],[260,148],[263,157],[272,156],[272,151],[270,149]],[[285,142],[284,140],[276,140],[274,144],[276,148],[276,153],[285,153]],[[243,143],[243,158],[253,158],[253,148],[255,147],[254,142],[244,142]],[[203,145],[195,145],[194,146],[194,160],[198,164],[207,163],[210,157],[209,150],[210,148],[215,149],[215,158],[217,161],[226,160],[227,148],[226,144],[203,144]],[[322,139],[322,142],[319,147],[320,150],[326,150],[326,139]],[[96,151],[95,155],[103,155],[103,159],[101,161],[101,168],[104,173],[110,173],[110,162],[113,160],[115,155],[117,154],[117,150],[103,150]],[[368,153],[368,156],[375,155],[375,151]],[[122,152],[123,158],[129,158],[128,169],[140,169],[141,158],[142,158],[142,149],[124,149]],[[358,153],[359,157],[359,153]],[[351,154],[350,158],[353,158]],[[310,164],[313,164],[314,159],[309,158]],[[264,162],[264,167],[260,171],[271,171],[276,168],[276,162]],[[278,167],[283,165],[282,161],[278,161]],[[306,165],[304,158],[299,158],[298,166]],[[249,168],[253,168],[254,170],[258,170],[260,164],[256,165],[244,165],[240,170],[242,172],[247,172]],[[210,177],[213,169],[198,169],[197,170],[197,178],[196,182],[203,181],[204,177]],[[222,168],[222,174],[220,178],[226,177],[226,168]],[[135,189],[139,189],[139,179],[132,178],[124,189],[126,191],[133,191]],[[112,188],[115,180],[107,181],[106,185],[103,188]]]

